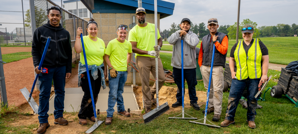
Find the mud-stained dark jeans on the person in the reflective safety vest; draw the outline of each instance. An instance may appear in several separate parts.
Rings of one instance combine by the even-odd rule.
[[[254,118],[257,115],[256,108],[258,105],[258,98],[254,98],[254,96],[259,91],[259,82],[260,79],[249,78],[246,80],[232,80],[225,119],[234,121],[239,100],[241,99],[243,91],[247,89],[247,120],[254,121]]]

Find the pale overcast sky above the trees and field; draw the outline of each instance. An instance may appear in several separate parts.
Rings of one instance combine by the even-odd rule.
[[[61,0],[53,0],[61,5]],[[64,1],[64,0],[63,0]],[[160,29],[169,29],[170,24],[180,24],[182,18],[189,18],[193,23],[204,22],[209,18],[217,18],[219,25],[233,25],[237,22],[237,0],[164,0],[175,3],[173,15],[160,20]],[[29,1],[23,0],[24,11],[29,9]],[[22,11],[21,0],[2,1],[1,11]],[[297,14],[298,0],[242,0],[240,4],[240,22],[249,18],[260,26],[276,26],[277,24],[298,24]],[[23,23],[20,12],[1,12],[0,23],[14,22]],[[23,24],[2,24],[0,28],[23,27]],[[0,30],[2,31],[2,30]]]

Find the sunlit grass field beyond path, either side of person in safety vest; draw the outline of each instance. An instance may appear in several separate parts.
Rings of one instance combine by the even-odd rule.
[[[288,65],[288,63],[297,60],[297,37],[260,38],[260,40],[268,48],[269,63]],[[229,40],[227,57],[230,57],[231,49],[235,43],[236,40]]]

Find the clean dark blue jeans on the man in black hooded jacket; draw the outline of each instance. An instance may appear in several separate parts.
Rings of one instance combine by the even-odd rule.
[[[49,115],[49,99],[52,88],[52,80],[55,87],[55,100],[54,100],[54,117],[58,119],[63,116],[64,109],[64,94],[65,94],[65,75],[66,66],[48,68],[48,74],[40,73],[39,80],[39,107],[38,107],[38,120],[39,123],[47,123]]]

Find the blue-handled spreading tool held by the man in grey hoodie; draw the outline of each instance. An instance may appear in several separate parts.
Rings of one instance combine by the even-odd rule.
[[[174,116],[174,117],[169,117],[169,119],[197,119],[197,118],[194,118],[193,116],[190,116],[188,114],[188,116],[192,117],[192,118],[185,118],[184,117],[184,71],[183,71],[183,36],[181,36],[181,74],[182,74],[182,113],[180,113],[179,115],[182,114],[182,118],[180,117],[177,117],[177,116]]]

